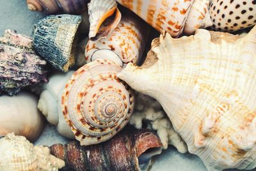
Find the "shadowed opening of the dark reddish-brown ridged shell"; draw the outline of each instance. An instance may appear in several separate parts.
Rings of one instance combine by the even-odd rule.
[[[143,152],[138,156],[139,166],[141,170],[148,170],[148,167],[151,165],[151,159],[153,156],[156,156],[157,154],[161,154],[162,147],[153,147],[150,149],[147,149],[147,151]]]

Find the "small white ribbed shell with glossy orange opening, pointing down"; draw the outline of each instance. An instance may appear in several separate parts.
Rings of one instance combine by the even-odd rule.
[[[115,0],[91,0],[88,3],[88,14],[90,21],[89,38],[93,38],[93,40],[111,34],[122,17]]]

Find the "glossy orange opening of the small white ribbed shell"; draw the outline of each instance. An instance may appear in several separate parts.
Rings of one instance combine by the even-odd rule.
[[[114,31],[116,26],[118,26],[121,17],[121,12],[118,10],[117,6],[111,8],[111,10],[102,15],[101,19],[97,23],[97,26],[93,30],[94,36],[89,36],[90,40],[96,41],[100,38],[106,38],[109,36]]]

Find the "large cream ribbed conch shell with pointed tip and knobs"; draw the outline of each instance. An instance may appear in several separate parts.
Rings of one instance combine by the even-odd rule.
[[[245,37],[163,32],[145,63],[118,77],[155,98],[208,170],[256,167],[256,27]]]

